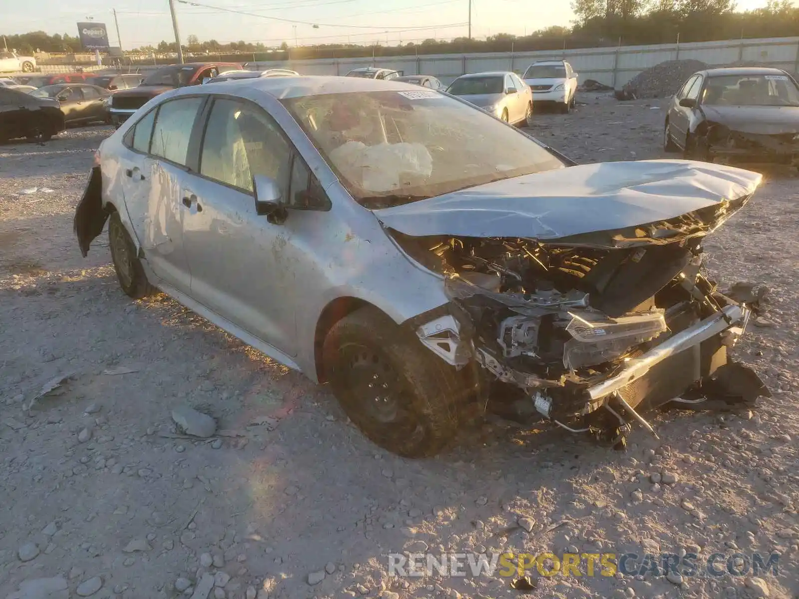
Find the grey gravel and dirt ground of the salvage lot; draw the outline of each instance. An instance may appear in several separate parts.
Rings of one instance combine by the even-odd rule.
[[[578,161],[662,157],[658,104],[581,100],[538,115],[535,133]],[[721,280],[771,289],[765,326],[737,357],[772,399],[739,415],[657,415],[661,441],[636,429],[626,453],[488,422],[413,462],[365,440],[325,387],[173,300],[132,303],[105,236],[81,258],[72,215],[109,133],[0,146],[0,597],[519,596],[499,574],[388,576],[388,553],[426,548],[699,554],[699,575],[682,581],[633,575],[639,559],[626,575],[534,573],[528,597],[799,597],[793,174],[767,173],[706,243]],[[182,403],[225,436],[170,436]],[[776,576],[753,580],[748,563],[745,576],[706,573],[715,552],[723,571],[733,553],[775,551]],[[197,589],[204,573],[216,589]]]

